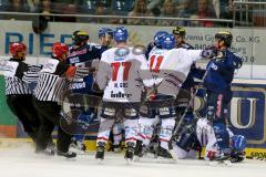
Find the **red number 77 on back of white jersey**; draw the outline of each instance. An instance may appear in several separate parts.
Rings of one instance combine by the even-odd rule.
[[[112,73],[112,81],[116,81],[117,80],[117,74],[119,74],[119,70],[122,66],[123,69],[123,81],[127,81],[129,80],[129,72],[130,72],[130,67],[131,67],[132,63],[131,62],[115,62],[115,63],[111,63],[111,66],[113,69],[113,73]]]

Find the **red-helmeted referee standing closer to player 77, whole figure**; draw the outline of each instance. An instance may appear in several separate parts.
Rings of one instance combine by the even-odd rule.
[[[52,58],[47,60],[39,73],[33,94],[33,103],[41,118],[41,126],[37,138],[37,154],[54,154],[54,152],[47,152],[45,149],[54,126],[58,126],[58,155],[68,158],[76,156],[75,153],[69,152],[71,135],[59,126],[61,106],[58,104],[58,96],[60,94],[60,86],[58,85],[64,80],[64,76],[72,79],[75,74],[75,66],[70,66],[65,63],[68,52],[69,48],[66,44],[60,42],[53,43]]]

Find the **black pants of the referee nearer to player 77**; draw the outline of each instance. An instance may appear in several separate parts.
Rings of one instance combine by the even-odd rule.
[[[41,126],[38,133],[35,152],[39,153],[47,148],[54,126],[58,126],[58,150],[63,153],[69,152],[71,135],[65,133],[60,127],[61,106],[58,105],[57,102],[44,102],[38,101],[37,98],[33,98],[33,103],[41,118]]]

